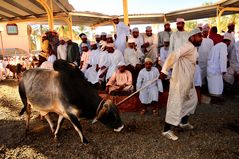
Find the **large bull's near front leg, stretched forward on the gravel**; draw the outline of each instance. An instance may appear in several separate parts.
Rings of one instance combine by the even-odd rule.
[[[89,143],[82,133],[82,127],[81,127],[81,124],[80,124],[79,120],[77,119],[77,117],[75,115],[73,115],[72,113],[67,113],[67,116],[68,116],[69,120],[71,121],[72,125],[74,126],[75,130],[80,135],[81,142],[84,144]]]

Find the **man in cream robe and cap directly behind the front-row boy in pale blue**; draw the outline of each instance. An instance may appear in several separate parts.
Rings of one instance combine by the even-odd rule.
[[[158,57],[158,38],[152,33],[152,27],[146,27],[146,33],[143,34],[143,52],[145,57],[153,60],[153,63],[157,61]]]

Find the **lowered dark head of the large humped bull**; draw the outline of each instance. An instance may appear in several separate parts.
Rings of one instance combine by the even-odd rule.
[[[111,100],[106,100],[102,108],[97,113],[93,123],[100,121],[109,128],[113,128],[114,131],[119,132],[123,129],[124,125],[119,116],[116,105]]]

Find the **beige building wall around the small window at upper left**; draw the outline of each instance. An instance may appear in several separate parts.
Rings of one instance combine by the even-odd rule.
[[[7,23],[0,23],[4,28],[2,32],[4,48],[20,48],[29,52],[29,41],[27,35],[27,23],[17,23],[18,35],[8,35],[6,31]]]

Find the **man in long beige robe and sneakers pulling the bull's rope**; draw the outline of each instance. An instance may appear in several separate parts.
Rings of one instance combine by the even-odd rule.
[[[160,79],[165,79],[168,70],[173,67],[170,79],[169,97],[165,125],[162,135],[171,140],[178,137],[171,130],[171,126],[181,126],[192,129],[188,118],[193,114],[197,105],[197,93],[194,86],[194,73],[197,60],[197,46],[202,42],[202,34],[199,28],[189,33],[189,39],[180,48],[169,54],[166,59]]]

